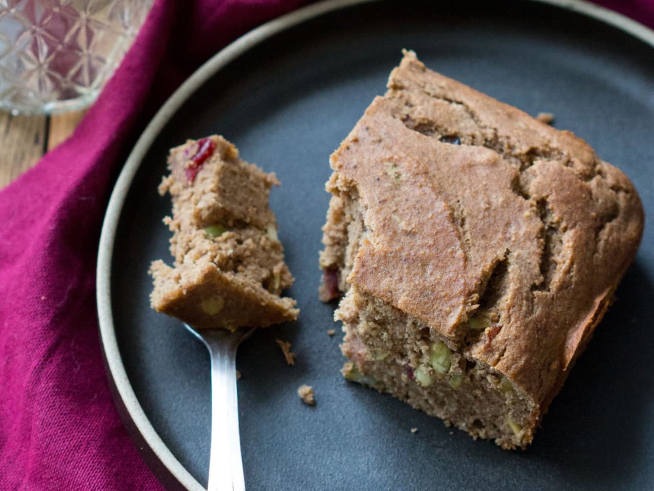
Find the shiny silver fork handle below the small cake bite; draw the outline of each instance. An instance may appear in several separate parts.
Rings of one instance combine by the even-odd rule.
[[[211,452],[208,491],[245,491],[239,410],[236,395],[236,351],[256,328],[198,330],[184,324],[211,357]]]

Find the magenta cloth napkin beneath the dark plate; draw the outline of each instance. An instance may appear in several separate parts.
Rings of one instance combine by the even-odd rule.
[[[199,64],[303,3],[157,1],[73,137],[0,192],[0,489],[161,489],[114,409],[99,346],[95,259],[112,178]],[[654,0],[599,3],[654,27]]]

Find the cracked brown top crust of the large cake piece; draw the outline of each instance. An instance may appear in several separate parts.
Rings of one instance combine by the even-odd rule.
[[[638,248],[627,177],[412,52],[331,164],[328,191],[358,201],[366,228],[347,281],[506,376],[535,426]],[[321,266],[342,267],[330,242],[347,225],[329,218]]]

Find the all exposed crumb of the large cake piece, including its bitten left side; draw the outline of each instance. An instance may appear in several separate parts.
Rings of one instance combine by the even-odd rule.
[[[492,312],[485,304],[494,299],[487,297],[470,319],[476,328],[470,338],[453,346],[424,323],[347,283],[358,248],[369,235],[358,198],[345,192],[332,197],[328,217],[320,255],[326,279],[321,297],[345,292],[335,314],[345,333],[341,350],[350,360],[343,367],[345,378],[390,393],[474,438],[494,439],[503,448],[526,446],[533,437],[536,403],[466,354],[475,336],[492,330]],[[501,291],[502,276],[496,270],[489,292]]]

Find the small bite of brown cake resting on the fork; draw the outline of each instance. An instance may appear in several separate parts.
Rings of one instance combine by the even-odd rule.
[[[239,159],[232,143],[210,136],[171,150],[169,192],[174,267],[154,261],[152,308],[199,329],[267,326],[296,319],[293,282],[268,196],[279,181]]]

